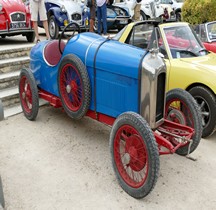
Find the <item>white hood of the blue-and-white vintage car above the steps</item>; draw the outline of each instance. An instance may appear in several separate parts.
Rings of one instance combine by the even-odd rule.
[[[56,4],[59,7],[64,5],[69,14],[75,13],[75,12],[78,12],[78,13],[82,12],[81,1],[77,1],[77,0],[49,0],[49,1],[45,1],[45,2]]]

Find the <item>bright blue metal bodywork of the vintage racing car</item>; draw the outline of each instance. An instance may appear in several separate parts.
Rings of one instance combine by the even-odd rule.
[[[139,112],[139,66],[146,51],[86,32],[73,37],[66,45],[60,62],[56,66],[49,66],[41,53],[46,44],[46,41],[40,42],[30,53],[30,68],[33,70],[38,87],[59,97],[57,82],[59,65],[66,55],[75,54],[86,65],[93,90],[96,55],[97,111],[113,117],[128,110]],[[100,50],[97,52],[99,46]],[[113,51],[113,49],[118,50]],[[133,53],[129,53],[130,51]],[[90,110],[94,108],[93,93],[94,91],[91,93]]]

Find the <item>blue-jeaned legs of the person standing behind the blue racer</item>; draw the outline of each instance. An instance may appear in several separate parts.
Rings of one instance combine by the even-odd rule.
[[[106,34],[107,33],[106,2],[101,7],[97,7],[97,19],[98,19],[98,34],[101,34],[101,19],[102,19],[102,23],[103,23],[103,34]]]

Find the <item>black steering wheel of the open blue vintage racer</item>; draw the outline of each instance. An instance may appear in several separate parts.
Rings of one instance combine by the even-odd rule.
[[[65,35],[65,31],[70,31],[70,29],[72,29],[72,34],[71,35]],[[78,32],[78,34],[81,32],[80,30],[80,26],[75,23],[75,22],[70,22],[67,26],[65,26],[65,28],[63,29],[62,33],[59,36],[59,51],[62,54],[62,50],[61,50],[61,41],[63,37],[66,37],[66,39],[69,41],[72,37],[74,37],[75,32]]]

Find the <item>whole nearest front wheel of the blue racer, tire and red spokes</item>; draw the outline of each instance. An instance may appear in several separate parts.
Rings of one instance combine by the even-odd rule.
[[[121,150],[120,147],[124,146]],[[124,154],[120,154],[122,151]],[[139,114],[125,112],[115,120],[110,134],[110,152],[116,177],[123,190],[134,198],[147,196],[157,182],[160,160],[153,132]],[[129,169],[133,176],[130,176]],[[146,173],[142,174],[143,170]],[[141,181],[137,180],[135,174]]]

